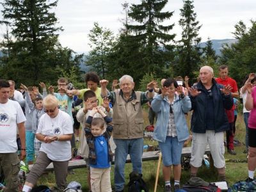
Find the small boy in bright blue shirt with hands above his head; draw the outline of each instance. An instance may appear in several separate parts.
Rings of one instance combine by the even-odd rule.
[[[104,132],[104,120],[93,118],[99,113],[107,124]],[[109,145],[109,139],[113,131],[113,124],[108,116],[100,109],[93,108],[86,120],[84,135],[89,146],[89,163],[91,167],[91,188],[93,192],[110,192],[110,170],[113,161],[113,153]],[[102,134],[103,132],[103,134]]]

